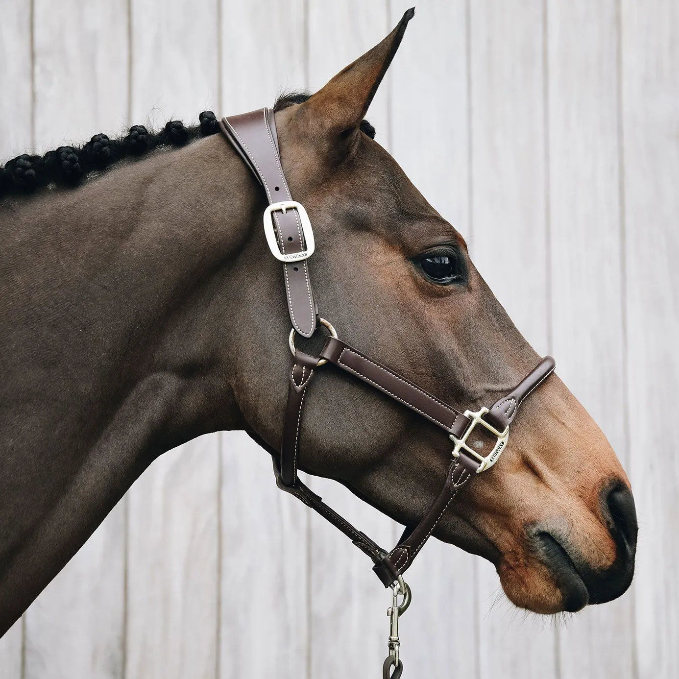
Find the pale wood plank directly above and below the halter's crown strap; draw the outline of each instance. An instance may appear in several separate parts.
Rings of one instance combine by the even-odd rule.
[[[304,0],[223,0],[221,17],[223,113],[304,89]],[[222,464],[219,679],[308,677],[310,510],[244,433],[223,434]]]

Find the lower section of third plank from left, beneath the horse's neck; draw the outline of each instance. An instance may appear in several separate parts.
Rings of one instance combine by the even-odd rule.
[[[219,438],[165,453],[129,498],[126,679],[214,679]]]

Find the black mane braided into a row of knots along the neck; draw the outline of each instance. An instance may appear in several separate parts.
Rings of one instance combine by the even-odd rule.
[[[110,139],[100,133],[82,147],[60,146],[43,156],[18,155],[0,166],[0,199],[30,194],[50,185],[77,186],[91,172],[101,172],[124,158],[141,158],[154,149],[184,146],[219,132],[217,117],[212,111],[203,111],[198,120],[198,126],[191,128],[179,120],[170,120],[157,134],[143,125],[133,125],[121,139]]]

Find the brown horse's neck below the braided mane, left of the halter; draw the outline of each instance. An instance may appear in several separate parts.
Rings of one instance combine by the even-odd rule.
[[[155,456],[236,422],[199,319],[256,200],[215,136],[0,207],[0,634]]]

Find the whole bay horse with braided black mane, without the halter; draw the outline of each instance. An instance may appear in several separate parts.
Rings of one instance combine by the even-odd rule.
[[[365,121],[411,14],[316,94],[278,99],[280,160],[314,227],[323,315],[442,401],[480,407],[538,357]],[[134,126],[2,170],[0,634],[163,452],[235,429],[280,450],[280,263],[261,186],[217,132],[204,112],[196,128]],[[507,285],[519,275],[510,263]],[[441,432],[332,365],[313,389],[299,467],[417,524],[449,468]],[[637,534],[619,460],[555,375],[516,423],[435,536],[489,559],[517,606],[617,598]]]

